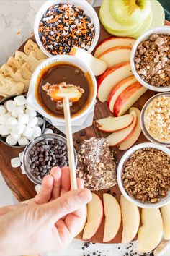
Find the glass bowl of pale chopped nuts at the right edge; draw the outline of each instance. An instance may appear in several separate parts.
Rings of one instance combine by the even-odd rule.
[[[170,93],[158,93],[146,102],[140,126],[148,140],[170,147]]]

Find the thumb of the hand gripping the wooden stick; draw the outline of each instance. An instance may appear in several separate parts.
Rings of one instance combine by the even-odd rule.
[[[76,189],[67,192],[56,200],[44,205],[48,218],[52,221],[58,221],[68,213],[73,213],[82,206],[86,205],[92,199],[89,189]]]

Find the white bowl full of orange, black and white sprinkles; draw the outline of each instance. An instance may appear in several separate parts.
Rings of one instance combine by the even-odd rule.
[[[99,19],[87,1],[46,1],[35,17],[34,33],[49,57],[69,54],[73,46],[91,53],[99,39]]]

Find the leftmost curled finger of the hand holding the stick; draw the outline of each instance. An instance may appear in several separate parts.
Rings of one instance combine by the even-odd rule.
[[[53,176],[50,174],[44,177],[40,192],[35,196],[35,202],[37,204],[42,204],[50,200],[53,191],[53,180]]]

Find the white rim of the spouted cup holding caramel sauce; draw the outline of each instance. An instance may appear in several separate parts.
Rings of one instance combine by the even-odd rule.
[[[42,61],[42,63],[37,67],[37,69],[35,69],[35,72],[32,74],[32,78],[30,80],[30,87],[29,87],[29,90],[27,93],[27,102],[30,104],[30,106],[34,106],[35,110],[37,112],[39,112],[40,114],[42,114],[42,116],[45,116],[46,119],[49,119],[50,121],[52,121],[52,123],[54,123],[54,124],[65,123],[64,118],[59,118],[59,117],[55,117],[55,116],[48,114],[44,110],[44,108],[42,108],[42,106],[40,106],[40,104],[37,102],[37,98],[35,97],[35,89],[36,89],[35,85],[37,84],[38,76],[39,76],[40,72],[42,71],[42,69],[47,68],[52,63],[71,64],[71,65],[76,66],[79,69],[81,69],[82,72],[84,72],[84,73],[88,72],[88,74],[90,75],[92,90],[91,90],[91,95],[89,95],[89,97],[91,97],[91,101],[87,104],[86,108],[84,108],[84,111],[81,111],[80,114],[77,114],[76,116],[73,116],[71,118],[71,122],[78,121],[83,116],[88,114],[91,107],[94,106],[94,103],[96,101],[96,96],[97,96],[97,80],[94,77],[94,74],[91,71],[91,69],[83,61],[81,61],[80,59],[78,59],[74,56],[56,55],[56,56],[53,56],[52,58],[48,58],[48,59],[45,59],[45,61]]]

